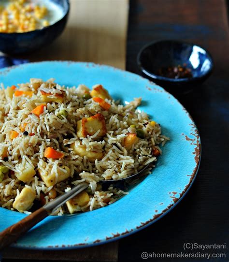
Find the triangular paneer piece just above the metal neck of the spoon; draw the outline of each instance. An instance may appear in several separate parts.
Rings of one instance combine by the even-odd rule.
[[[66,172],[64,172],[61,169],[64,169]],[[48,173],[47,171],[44,172],[43,170],[38,169],[38,173],[39,173],[41,179],[43,180],[44,184],[46,185],[46,187],[49,188],[51,186],[54,186],[57,183],[59,183],[63,180],[66,180],[67,178],[70,177],[71,172],[70,172],[69,167],[61,166],[61,169],[60,168],[57,169],[57,172],[58,172],[57,179],[56,179],[55,173]]]

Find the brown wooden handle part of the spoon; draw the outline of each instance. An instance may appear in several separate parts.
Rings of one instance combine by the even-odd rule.
[[[23,233],[26,233],[30,228],[35,226],[48,215],[48,211],[41,207],[26,218],[23,218],[14,225],[0,232],[0,250],[12,244]]]

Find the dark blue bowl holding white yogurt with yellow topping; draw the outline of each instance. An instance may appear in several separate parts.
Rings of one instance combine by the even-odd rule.
[[[25,33],[0,33],[0,51],[6,54],[29,53],[51,44],[66,26],[69,0],[49,0],[63,10],[63,17],[55,24]]]

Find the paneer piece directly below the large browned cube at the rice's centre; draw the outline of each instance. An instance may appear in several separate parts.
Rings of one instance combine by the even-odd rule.
[[[77,143],[73,143],[70,145],[70,147],[73,149],[73,151],[80,157],[86,156],[87,159],[90,162],[95,162],[96,159],[100,160],[103,157],[102,152],[96,152],[96,151],[86,151],[85,145],[78,145]]]

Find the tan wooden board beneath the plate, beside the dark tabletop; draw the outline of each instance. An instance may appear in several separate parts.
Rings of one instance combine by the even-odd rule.
[[[128,10],[128,0],[71,0],[69,22],[62,35],[50,46],[19,58],[30,61],[90,61],[125,69]],[[8,248],[2,255],[4,261],[36,259],[113,262],[117,261],[118,242],[61,251]]]

